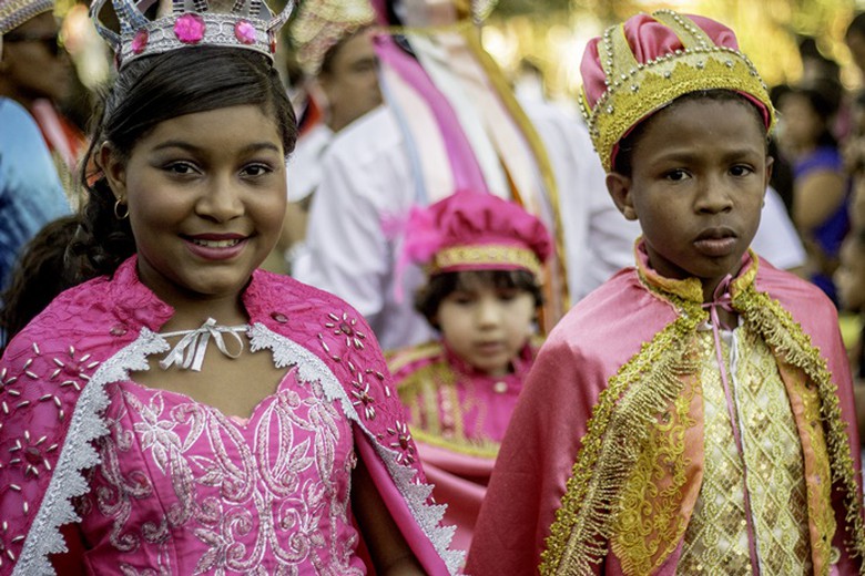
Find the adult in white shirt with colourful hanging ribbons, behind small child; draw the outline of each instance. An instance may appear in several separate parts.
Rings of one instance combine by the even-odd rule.
[[[457,3],[374,4],[383,23],[407,27],[406,35],[376,38],[386,105],[340,133],[323,156],[309,265],[295,270],[358,308],[385,348],[434,337],[406,296],[423,282],[421,271],[407,265],[395,274],[415,205],[471,183],[539,216],[557,240],[546,270],[543,329],[559,318],[564,297],[574,302],[632,264],[640,232],[607,194],[584,124],[550,102],[517,103],[501,90],[501,71],[476,51],[478,31]],[[502,110],[506,103],[512,107]],[[781,268],[801,266],[804,250],[774,192],[763,223],[755,249]]]

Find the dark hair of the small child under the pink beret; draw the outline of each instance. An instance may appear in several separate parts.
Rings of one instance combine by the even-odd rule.
[[[438,330],[436,317],[445,298],[457,290],[470,290],[478,286],[527,291],[535,298],[536,308],[543,304],[538,279],[528,270],[470,270],[430,276],[427,284],[415,294],[415,309]]]

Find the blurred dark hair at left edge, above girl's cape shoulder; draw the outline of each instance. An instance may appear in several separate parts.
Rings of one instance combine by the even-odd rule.
[[[65,274],[67,248],[79,227],[77,215],[48,223],[21,250],[3,290],[0,328],[6,342],[20,332],[57,295],[75,282]],[[3,342],[0,342],[2,351]]]

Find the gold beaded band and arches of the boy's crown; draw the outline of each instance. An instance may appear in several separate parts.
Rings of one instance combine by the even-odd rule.
[[[715,45],[685,17],[669,11],[652,16],[676,32],[684,50],[641,64],[633,56],[623,25],[609,28],[598,50],[607,90],[593,109],[584,90],[580,99],[592,144],[607,172],[612,171],[615,145],[634,125],[690,92],[721,89],[747,94],[765,105],[772,126],[775,114],[769,90],[747,56]]]

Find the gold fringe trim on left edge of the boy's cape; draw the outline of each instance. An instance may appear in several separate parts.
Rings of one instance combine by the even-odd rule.
[[[601,392],[541,554],[543,575],[590,574],[604,558],[639,446],[654,416],[681,393],[681,377],[696,369],[690,336],[709,313],[696,302],[673,300],[679,318],[644,343]]]

